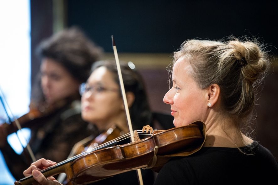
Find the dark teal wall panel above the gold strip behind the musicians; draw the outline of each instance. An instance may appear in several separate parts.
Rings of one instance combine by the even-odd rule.
[[[68,25],[79,25],[106,52],[166,52],[192,38],[262,37],[278,46],[275,1],[68,0]],[[275,49],[274,49],[275,50]]]

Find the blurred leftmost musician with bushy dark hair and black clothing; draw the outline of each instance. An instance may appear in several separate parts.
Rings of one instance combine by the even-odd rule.
[[[94,132],[81,118],[78,88],[88,79],[91,65],[99,59],[102,49],[81,29],[71,27],[42,41],[37,53],[40,73],[32,89],[30,112],[24,115],[21,126],[31,130],[29,144],[36,159],[63,161],[74,143]],[[5,133],[0,149],[12,175],[20,179],[30,159],[16,154],[6,140],[16,129],[5,124],[0,129]]]

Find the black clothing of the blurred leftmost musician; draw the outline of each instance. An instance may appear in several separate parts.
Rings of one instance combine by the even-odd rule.
[[[78,100],[68,102],[50,115],[29,121],[23,127],[31,130],[29,145],[36,160],[45,158],[55,162],[67,159],[73,145],[94,132],[82,120]],[[23,171],[30,166],[31,160],[26,160],[23,153],[15,153],[8,142],[0,149],[13,177],[16,180],[24,178]]]

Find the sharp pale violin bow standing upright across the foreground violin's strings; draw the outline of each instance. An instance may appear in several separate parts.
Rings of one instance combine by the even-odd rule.
[[[120,90],[121,90],[121,93],[122,93],[122,96],[123,96],[124,107],[125,107],[125,111],[126,111],[127,124],[128,124],[129,132],[130,132],[130,135],[131,135],[131,142],[135,142],[134,137],[133,137],[133,129],[132,129],[132,125],[131,125],[131,119],[130,119],[128,104],[127,104],[127,100],[126,100],[126,91],[125,91],[122,72],[121,72],[121,68],[120,68],[118,52],[117,52],[117,48],[116,48],[116,44],[115,44],[115,40],[113,38],[113,35],[111,36],[111,38],[112,38],[112,46],[113,46],[113,51],[114,51],[116,66],[117,66],[117,71],[118,71],[118,77],[119,77],[119,81],[120,81]],[[137,169],[137,176],[138,176],[138,180],[139,180],[140,185],[143,185],[143,178],[142,178],[142,173],[141,173],[140,168]]]

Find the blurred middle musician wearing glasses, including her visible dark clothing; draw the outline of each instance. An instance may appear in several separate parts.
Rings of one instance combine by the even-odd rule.
[[[121,63],[120,67],[132,127],[133,130],[142,130],[142,127],[147,124],[152,126],[152,112],[148,104],[142,77],[132,62],[128,64]],[[80,87],[82,118],[96,126],[100,131],[95,140],[83,145],[83,151],[129,133],[118,79],[115,61],[98,61],[93,64],[92,73],[86,83],[83,83]],[[129,138],[122,141],[122,143],[128,142],[131,142]],[[80,152],[82,151],[79,150],[77,153]],[[144,184],[153,184],[154,173],[151,170],[143,170],[142,176]],[[115,175],[93,184],[109,184],[112,182],[115,184],[137,184],[136,171]]]

